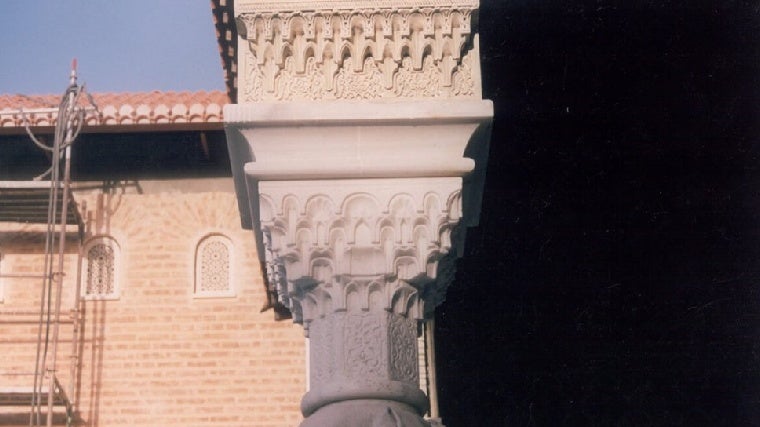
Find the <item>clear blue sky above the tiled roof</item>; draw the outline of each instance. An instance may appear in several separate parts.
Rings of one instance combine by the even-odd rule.
[[[90,92],[224,90],[208,0],[3,1],[0,35],[0,93],[61,93],[72,58]]]

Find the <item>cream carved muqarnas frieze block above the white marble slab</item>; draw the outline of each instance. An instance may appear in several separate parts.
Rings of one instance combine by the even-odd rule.
[[[472,9],[244,13],[242,102],[476,97]]]

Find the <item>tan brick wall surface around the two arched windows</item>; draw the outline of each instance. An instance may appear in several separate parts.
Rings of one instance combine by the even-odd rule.
[[[76,195],[88,238],[111,236],[120,249],[118,299],[81,304],[80,425],[287,426],[301,419],[302,329],[260,312],[265,293],[252,232],[240,228],[231,191],[199,190],[200,183]],[[234,297],[193,295],[196,245],[211,233],[232,243]],[[0,236],[3,273],[41,269],[28,233]],[[74,306],[76,258],[67,256],[66,308]],[[3,285],[2,319],[38,309],[38,281]],[[0,328],[0,351],[12,356],[0,359],[0,372],[33,370],[36,326]],[[72,327],[61,336],[59,367],[68,369]],[[68,372],[59,377],[68,382]]]

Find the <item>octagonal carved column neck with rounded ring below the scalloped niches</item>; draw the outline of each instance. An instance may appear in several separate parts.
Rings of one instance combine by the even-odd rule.
[[[425,411],[426,398],[418,388],[415,319],[382,308],[349,308],[315,319],[309,342],[311,390],[302,401],[304,415],[338,401],[373,399],[404,402],[410,405],[406,411]],[[317,417],[304,425],[388,424],[332,424]]]

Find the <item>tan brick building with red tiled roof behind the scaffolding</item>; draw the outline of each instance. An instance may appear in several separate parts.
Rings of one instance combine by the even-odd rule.
[[[303,333],[261,310],[260,264],[225,176],[227,95],[94,99],[101,115],[88,118],[72,147],[76,215],[66,229],[57,340],[55,377],[73,424],[297,424]],[[29,422],[28,400],[8,396],[28,397],[33,385],[46,235],[34,215],[47,208],[33,196],[49,192],[48,183],[29,181],[48,160],[15,110],[28,111],[31,129],[45,137],[44,107],[58,100],[0,97],[0,425]]]

